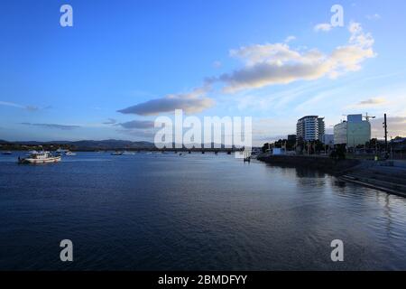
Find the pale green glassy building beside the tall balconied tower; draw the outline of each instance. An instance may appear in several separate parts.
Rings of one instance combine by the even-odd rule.
[[[371,124],[362,115],[350,115],[346,121],[334,126],[334,144],[347,147],[364,145],[371,140]]]

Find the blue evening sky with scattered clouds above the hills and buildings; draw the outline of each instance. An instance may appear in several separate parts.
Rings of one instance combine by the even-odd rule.
[[[73,26],[60,25],[60,6]],[[344,25],[332,26],[333,5]],[[5,0],[0,139],[152,141],[174,109],[253,117],[254,144],[297,119],[376,117],[406,136],[404,0]]]

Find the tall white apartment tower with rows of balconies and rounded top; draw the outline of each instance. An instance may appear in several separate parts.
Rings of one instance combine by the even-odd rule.
[[[322,140],[325,134],[324,118],[318,116],[302,117],[296,125],[297,139],[305,142]]]

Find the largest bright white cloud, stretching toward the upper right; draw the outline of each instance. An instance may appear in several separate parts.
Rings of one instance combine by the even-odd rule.
[[[330,54],[316,49],[297,51],[286,43],[255,44],[230,51],[232,57],[245,62],[245,67],[225,73],[217,80],[226,83],[224,91],[259,89],[275,84],[322,77],[337,78],[348,71],[361,69],[361,63],[375,56],[374,38],[364,33],[359,23],[348,27],[348,43]]]

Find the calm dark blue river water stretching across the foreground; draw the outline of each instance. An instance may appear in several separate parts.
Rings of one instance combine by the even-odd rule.
[[[406,269],[406,200],[327,174],[225,154],[16,157],[0,156],[2,270]]]

